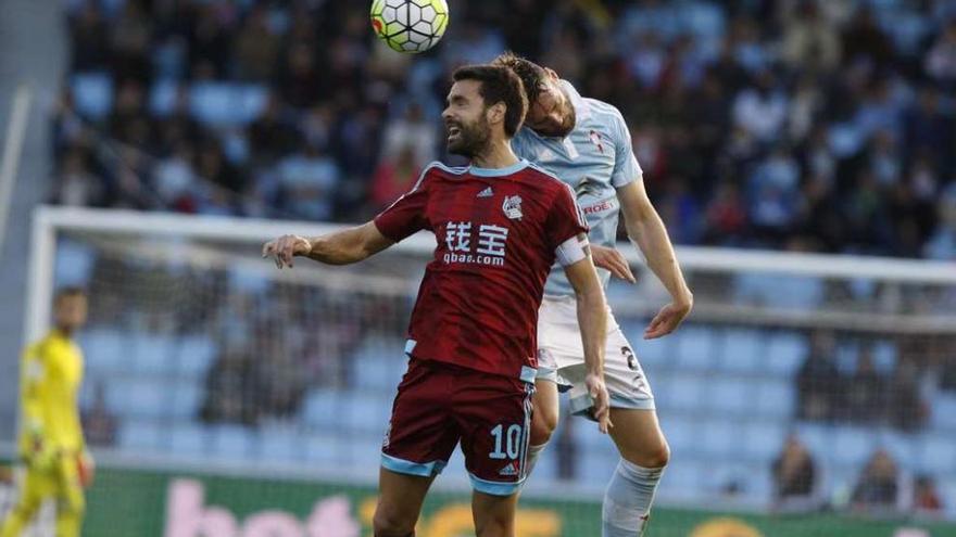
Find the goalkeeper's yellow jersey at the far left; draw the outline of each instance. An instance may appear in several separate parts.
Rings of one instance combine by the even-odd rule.
[[[53,330],[26,348],[21,375],[21,455],[28,458],[34,453],[36,439],[43,450],[85,449],[77,405],[83,382],[79,346]]]

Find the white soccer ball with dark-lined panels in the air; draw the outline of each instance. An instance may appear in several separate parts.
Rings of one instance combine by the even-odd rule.
[[[372,27],[392,50],[412,54],[435,47],[448,27],[445,0],[375,0]]]

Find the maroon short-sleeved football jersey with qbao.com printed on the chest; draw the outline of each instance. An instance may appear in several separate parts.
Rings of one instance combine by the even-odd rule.
[[[427,229],[438,243],[406,353],[533,380],[538,307],[555,251],[588,231],[569,187],[526,161],[500,169],[433,163],[375,225],[395,242]]]

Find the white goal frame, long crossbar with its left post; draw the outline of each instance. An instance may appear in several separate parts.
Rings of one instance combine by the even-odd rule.
[[[153,235],[175,235],[192,239],[216,239],[229,242],[254,244],[274,239],[284,233],[318,235],[345,226],[291,220],[264,220],[255,218],[234,218],[223,216],[192,216],[184,214],[142,213],[135,210],[92,209],[79,207],[40,206],[34,212],[30,241],[29,280],[25,307],[25,341],[37,338],[49,324],[52,289],[52,268],[55,258],[55,236],[59,229],[93,232],[143,233]],[[433,238],[426,232],[418,233],[397,246],[405,252],[427,255],[435,248]],[[643,265],[644,259],[630,244],[618,245],[631,265]],[[872,279],[882,282],[956,285],[956,264],[930,260],[914,260],[853,255],[803,254],[790,252],[731,250],[700,246],[679,246],[677,257],[681,268],[693,271],[759,272],[792,277],[816,277],[833,279]],[[653,276],[650,276],[653,279]],[[656,282],[655,282],[656,283]],[[638,309],[653,308],[654,305],[637,305]],[[699,309],[707,310],[706,304]],[[727,308],[719,308],[727,314]],[[647,312],[644,311],[644,312]],[[745,308],[738,311],[749,314]],[[815,316],[819,316],[817,312]],[[855,318],[864,319],[873,329],[882,323],[896,327],[895,316],[868,315],[854,311]],[[785,315],[784,315],[785,317]],[[911,316],[910,316],[911,317]],[[818,320],[818,317],[814,317]],[[800,325],[800,315],[782,319]],[[838,314],[834,322],[841,320]],[[917,318],[915,325],[956,333],[956,316]],[[872,324],[877,323],[877,324]],[[910,324],[914,324],[910,319]],[[857,323],[859,324],[859,323]],[[903,330],[905,330],[903,325]],[[919,331],[919,330],[916,330]]]

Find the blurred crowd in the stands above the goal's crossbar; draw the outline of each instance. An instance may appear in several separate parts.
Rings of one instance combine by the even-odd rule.
[[[361,2],[74,0],[51,199],[361,220],[512,49],[622,111],[678,243],[956,258],[953,0],[450,3],[412,57]]]

